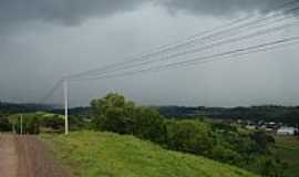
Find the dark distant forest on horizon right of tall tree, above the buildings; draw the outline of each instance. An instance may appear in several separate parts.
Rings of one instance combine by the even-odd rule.
[[[196,117],[205,116],[219,119],[248,119],[252,122],[277,122],[289,125],[299,125],[299,106],[251,106],[251,107],[158,107],[166,117]]]

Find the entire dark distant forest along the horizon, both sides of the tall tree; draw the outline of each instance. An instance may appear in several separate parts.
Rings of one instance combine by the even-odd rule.
[[[289,125],[299,125],[299,106],[278,106],[262,105],[250,107],[186,107],[186,106],[155,106],[154,108],[167,118],[194,118],[205,116],[218,119],[248,119],[248,121],[265,121],[277,122]],[[52,105],[40,104],[16,104],[0,102],[0,112],[2,114],[12,113],[30,113],[37,111],[48,111],[56,114],[63,114],[62,108],[56,108]],[[70,108],[70,115],[87,116],[90,107]]]

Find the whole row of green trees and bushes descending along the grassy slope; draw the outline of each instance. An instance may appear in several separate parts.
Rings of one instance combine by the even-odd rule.
[[[282,177],[285,164],[275,154],[275,139],[262,131],[203,118],[169,121],[153,108],[142,107],[118,94],[91,103],[97,131],[134,135],[161,146],[235,165],[267,177]],[[182,118],[181,118],[182,119]]]

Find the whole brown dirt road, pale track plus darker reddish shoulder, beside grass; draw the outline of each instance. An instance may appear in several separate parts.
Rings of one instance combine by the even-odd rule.
[[[0,134],[0,177],[69,177],[37,136]]]

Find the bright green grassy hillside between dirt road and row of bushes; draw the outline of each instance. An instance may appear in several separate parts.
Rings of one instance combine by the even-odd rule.
[[[199,156],[165,150],[133,136],[76,132],[42,135],[75,176],[84,177],[254,177]]]

